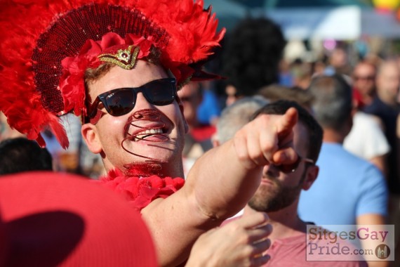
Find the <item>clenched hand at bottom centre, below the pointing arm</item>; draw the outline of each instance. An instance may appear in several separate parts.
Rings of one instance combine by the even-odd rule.
[[[266,223],[267,214],[258,212],[209,230],[194,243],[186,267],[264,265],[272,230]]]

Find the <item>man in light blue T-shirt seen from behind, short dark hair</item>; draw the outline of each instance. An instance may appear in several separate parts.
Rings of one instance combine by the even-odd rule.
[[[314,78],[309,90],[314,95],[314,116],[324,129],[324,142],[316,162],[318,179],[300,195],[300,218],[317,225],[385,224],[385,178],[373,164],[342,147],[352,128],[351,87],[341,75],[335,74]],[[387,263],[368,264],[386,266]]]

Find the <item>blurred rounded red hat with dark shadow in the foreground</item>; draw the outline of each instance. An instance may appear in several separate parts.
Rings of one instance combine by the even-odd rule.
[[[157,266],[140,214],[86,178],[2,176],[0,195],[0,266]]]

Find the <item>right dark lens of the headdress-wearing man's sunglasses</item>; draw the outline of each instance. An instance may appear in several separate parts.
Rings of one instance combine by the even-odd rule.
[[[168,79],[159,80],[144,90],[147,100],[153,105],[169,105],[175,96],[175,84]]]

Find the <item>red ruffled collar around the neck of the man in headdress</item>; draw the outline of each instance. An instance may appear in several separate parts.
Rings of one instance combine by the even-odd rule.
[[[134,209],[140,211],[158,197],[166,198],[185,184],[183,178],[125,176],[119,169],[109,171],[107,176],[95,183],[101,183],[116,193],[124,195]]]

